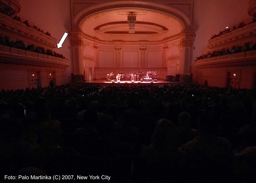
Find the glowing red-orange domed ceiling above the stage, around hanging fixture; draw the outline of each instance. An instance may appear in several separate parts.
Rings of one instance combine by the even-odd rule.
[[[128,15],[136,16],[135,33],[129,33]],[[85,19],[81,31],[104,41],[159,41],[178,36],[181,22],[171,16],[148,10],[122,9],[95,14]]]

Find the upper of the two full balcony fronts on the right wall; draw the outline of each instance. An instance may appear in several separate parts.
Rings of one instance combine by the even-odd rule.
[[[228,33],[217,36],[208,40],[208,48],[217,49],[225,46],[237,45],[237,43],[245,43],[247,40],[254,40],[256,37],[256,22],[252,22],[243,27],[234,29]]]

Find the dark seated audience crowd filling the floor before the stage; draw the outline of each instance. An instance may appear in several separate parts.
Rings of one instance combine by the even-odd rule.
[[[254,90],[72,83],[1,90],[0,115],[1,179],[108,175],[115,183],[249,183],[256,178]]]

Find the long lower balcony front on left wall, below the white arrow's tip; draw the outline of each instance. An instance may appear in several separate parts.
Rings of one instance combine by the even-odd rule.
[[[52,55],[0,45],[0,63],[66,68],[69,60]]]

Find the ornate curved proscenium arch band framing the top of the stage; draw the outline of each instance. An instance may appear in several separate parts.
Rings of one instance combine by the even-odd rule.
[[[80,10],[79,13],[76,14],[74,17],[74,20],[72,22],[72,30],[73,31],[80,31],[81,24],[86,19],[91,19],[94,16],[97,16],[99,13],[106,13],[108,11],[115,11],[115,10],[122,10],[122,9],[134,9],[134,10],[147,10],[149,13],[160,13],[163,16],[170,16],[174,19],[176,19],[179,24],[182,25],[182,29],[184,32],[190,32],[191,31],[191,23],[186,15],[181,13],[180,11],[155,4],[155,3],[149,3],[145,4],[145,2],[131,2],[131,1],[117,1],[117,2],[110,2],[110,3],[103,3],[103,4],[97,4],[95,6],[92,6],[90,8],[83,8]]]

